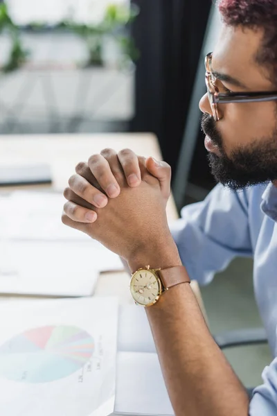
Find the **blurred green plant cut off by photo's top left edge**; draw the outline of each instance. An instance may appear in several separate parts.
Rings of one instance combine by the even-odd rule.
[[[5,3],[0,3],[0,33],[6,31],[11,40],[11,49],[8,62],[0,68],[4,73],[14,71],[21,67],[26,61],[28,51],[21,43],[19,28],[14,24],[8,14],[8,7]]]

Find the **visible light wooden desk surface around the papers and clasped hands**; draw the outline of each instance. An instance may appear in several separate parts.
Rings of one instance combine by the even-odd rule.
[[[63,191],[69,177],[74,173],[75,165],[78,162],[87,161],[90,155],[100,153],[104,148],[114,148],[116,151],[131,148],[137,155],[161,159],[159,143],[152,134],[8,135],[0,136],[0,165],[38,164],[40,162],[50,164],[53,184],[48,188]],[[15,188],[12,189],[15,190]],[[42,187],[40,186],[39,189]],[[3,190],[8,189],[3,188]],[[169,221],[178,218],[172,196],[168,202],[167,214]],[[196,281],[192,282],[192,287],[206,317]],[[126,272],[101,273],[95,294],[98,296],[116,295],[120,303],[133,303],[129,293],[129,276]],[[15,299],[15,296],[0,296],[0,300],[4,299]],[[21,299],[26,299],[26,297],[21,297]]]

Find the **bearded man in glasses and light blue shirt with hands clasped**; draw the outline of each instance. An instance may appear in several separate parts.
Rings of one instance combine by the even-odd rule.
[[[256,299],[277,356],[277,1],[222,0],[219,6],[224,26],[206,59],[208,92],[200,108],[208,158],[221,184],[204,202],[185,207],[170,230],[168,165],[106,149],[76,167],[62,220],[123,257],[138,277],[132,295],[149,306],[177,416],[273,416],[277,358],[249,401],[213,341],[186,275],[207,283],[233,257],[253,256]],[[161,268],[161,279],[155,271],[148,276],[146,265]],[[159,284],[168,291],[156,302]]]

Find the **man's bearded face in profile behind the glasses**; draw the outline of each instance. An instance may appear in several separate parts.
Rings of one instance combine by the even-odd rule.
[[[241,85],[217,80],[220,92],[274,91],[269,73],[255,60],[262,31],[224,26],[213,51],[212,71]],[[231,189],[277,180],[276,101],[220,104],[219,121],[213,119],[205,94],[200,103],[202,129],[215,179]]]

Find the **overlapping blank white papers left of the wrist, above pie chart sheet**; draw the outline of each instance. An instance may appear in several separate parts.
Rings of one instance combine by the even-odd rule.
[[[100,272],[123,270],[116,254],[62,224],[59,193],[0,198],[0,293],[89,296]]]

